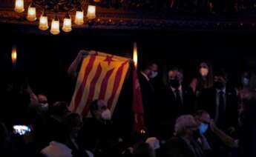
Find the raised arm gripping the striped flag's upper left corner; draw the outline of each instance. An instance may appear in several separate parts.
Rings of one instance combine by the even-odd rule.
[[[84,59],[86,56],[89,55],[88,50],[80,50],[78,55],[76,56],[76,59],[73,60],[72,64],[70,64],[70,67],[68,68],[68,75],[72,78],[76,78],[77,76],[77,68],[79,64],[81,63],[82,59]]]

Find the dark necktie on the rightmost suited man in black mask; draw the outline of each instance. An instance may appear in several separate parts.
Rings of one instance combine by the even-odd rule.
[[[219,92],[217,124],[219,125],[220,128],[223,127],[223,124],[225,124],[225,96],[223,91]]]

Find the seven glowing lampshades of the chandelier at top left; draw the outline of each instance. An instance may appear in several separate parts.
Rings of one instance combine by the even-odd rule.
[[[24,12],[24,0],[16,0],[14,10],[17,13]],[[87,18],[88,19],[96,18],[96,7],[95,6],[93,6],[93,5],[88,6]],[[31,3],[30,6],[27,8],[27,20],[28,21],[36,21],[36,7],[33,5],[33,3]],[[84,11],[82,9],[76,10],[76,16],[75,16],[74,22],[77,25],[84,24]],[[67,33],[70,32],[72,30],[71,25],[72,25],[71,17],[67,13],[67,15],[65,16],[65,19],[63,20],[62,30]],[[42,16],[40,16],[40,18],[39,18],[39,29],[40,30],[48,29],[48,18],[47,18],[45,11],[42,13]],[[51,21],[50,33],[52,33],[53,35],[57,35],[60,33],[59,19],[56,15],[54,16],[53,20]]]

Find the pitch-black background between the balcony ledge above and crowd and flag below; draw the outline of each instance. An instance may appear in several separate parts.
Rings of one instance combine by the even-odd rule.
[[[0,24],[0,73],[4,84],[13,73],[25,76],[33,91],[45,93],[51,102],[70,101],[75,80],[67,70],[81,49],[131,56],[137,41],[139,63],[157,61],[159,79],[169,67],[183,68],[185,82],[197,73],[200,61],[214,69],[225,67],[236,84],[241,70],[255,70],[255,31],[229,30],[78,30],[52,36],[36,26]],[[18,61],[13,70],[10,54],[16,44]],[[162,73],[161,73],[162,72]],[[18,78],[16,78],[18,79]]]

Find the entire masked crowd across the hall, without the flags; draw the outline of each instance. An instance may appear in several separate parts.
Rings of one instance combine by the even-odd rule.
[[[88,54],[80,51],[68,73]],[[105,101],[91,103],[91,117],[68,110],[68,102],[48,103],[26,81],[1,89],[0,156],[236,157],[256,156],[256,79],[245,70],[240,85],[209,63],[183,84],[183,71],[168,70],[167,84],[154,79],[158,65],[138,71],[145,128],[123,135]]]

